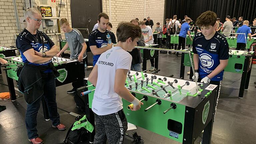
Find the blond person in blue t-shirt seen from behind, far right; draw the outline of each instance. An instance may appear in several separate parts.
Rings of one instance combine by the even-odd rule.
[[[251,41],[252,30],[250,27],[248,27],[248,25],[249,25],[249,21],[245,20],[243,23],[243,26],[241,26],[237,30],[237,33],[245,33],[245,35],[244,34],[236,34],[236,37],[237,37],[236,50],[245,50],[246,43],[247,43],[247,35],[249,35],[249,38],[250,38],[249,41]]]

